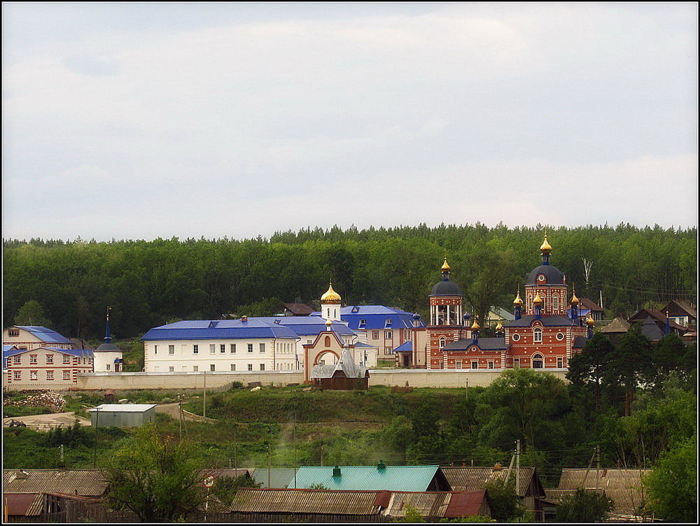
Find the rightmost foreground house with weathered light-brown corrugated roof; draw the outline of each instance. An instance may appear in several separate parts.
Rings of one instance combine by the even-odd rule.
[[[651,472],[651,469],[562,469],[559,488],[547,489],[547,497],[559,502],[578,488],[603,492],[614,502],[610,519],[636,521],[647,498],[642,480]]]

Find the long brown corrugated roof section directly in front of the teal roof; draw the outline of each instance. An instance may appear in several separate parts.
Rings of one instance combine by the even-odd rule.
[[[372,516],[379,513],[373,491],[284,490],[241,488],[233,513],[323,513]]]

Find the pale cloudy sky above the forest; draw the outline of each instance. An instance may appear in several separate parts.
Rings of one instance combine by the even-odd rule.
[[[698,4],[2,4],[3,239],[698,223]]]

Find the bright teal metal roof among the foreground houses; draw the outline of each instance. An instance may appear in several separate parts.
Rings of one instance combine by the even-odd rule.
[[[340,476],[333,467],[303,466],[297,470],[297,488],[322,484],[329,490],[425,491],[439,466],[342,466]]]

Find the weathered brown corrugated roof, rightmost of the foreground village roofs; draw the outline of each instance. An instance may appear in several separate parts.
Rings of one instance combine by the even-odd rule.
[[[641,481],[651,472],[651,469],[562,469],[558,489],[600,488],[615,501],[617,513],[632,513],[645,500]]]

